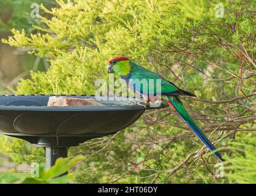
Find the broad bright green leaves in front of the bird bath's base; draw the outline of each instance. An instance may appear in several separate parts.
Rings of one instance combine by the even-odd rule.
[[[30,173],[7,172],[0,176],[0,184],[67,184],[71,181],[72,176],[63,175],[70,167],[84,160],[83,156],[58,158],[51,168],[45,170],[44,164],[39,164],[39,176],[33,177]],[[62,175],[62,176],[60,176]]]

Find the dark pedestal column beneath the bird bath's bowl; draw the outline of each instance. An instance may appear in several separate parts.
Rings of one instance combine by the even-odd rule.
[[[46,147],[46,168],[52,167],[59,157],[68,156],[68,147]]]

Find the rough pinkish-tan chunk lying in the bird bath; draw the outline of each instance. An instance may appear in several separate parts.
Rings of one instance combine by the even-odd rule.
[[[79,99],[79,98],[73,98],[73,97],[65,97],[65,96],[52,96],[49,97],[47,107],[74,107],[74,106],[102,106],[103,104],[100,104],[95,99]]]

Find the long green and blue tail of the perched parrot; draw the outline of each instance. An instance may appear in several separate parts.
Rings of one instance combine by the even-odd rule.
[[[220,160],[220,162],[222,162],[223,159],[222,159],[221,154],[215,151],[216,148],[214,147],[214,145],[212,145],[212,143],[210,143],[210,141],[208,140],[206,135],[204,135],[204,133],[199,129],[199,127],[196,125],[196,123],[194,123],[191,116],[185,110],[185,107],[183,106],[180,99],[177,96],[172,96],[172,97],[167,96],[167,98],[168,98],[167,102],[170,105],[170,107],[174,108],[178,112],[178,114],[183,118],[185,123],[187,123],[188,126],[190,126],[190,128],[199,137],[199,139],[207,146],[207,148],[210,149],[210,151],[212,151],[212,153],[214,153],[214,155],[218,158],[218,160]]]

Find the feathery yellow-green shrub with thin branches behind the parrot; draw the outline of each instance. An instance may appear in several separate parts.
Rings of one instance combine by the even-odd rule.
[[[44,5],[41,18],[30,17],[34,2]],[[71,148],[86,157],[74,183],[256,183],[255,1],[1,4],[1,93],[94,94],[94,81],[108,79],[106,62],[129,56],[196,94],[184,104],[226,159],[216,176],[215,157],[164,108]],[[25,141],[0,142],[17,164],[44,161],[43,149]]]

